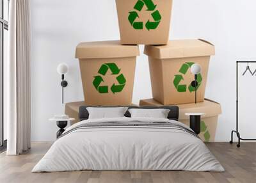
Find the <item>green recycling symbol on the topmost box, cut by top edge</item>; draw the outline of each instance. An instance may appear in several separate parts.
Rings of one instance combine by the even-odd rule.
[[[147,11],[152,12],[151,16],[154,19],[154,21],[148,20],[145,24],[145,27],[148,29],[156,29],[159,25],[162,17],[158,10],[156,9],[156,5],[152,2],[152,0],[138,0],[135,6],[133,7],[134,10],[137,10],[140,12],[143,8],[143,6],[147,6]],[[143,22],[135,21],[137,18],[140,18],[138,13],[136,11],[129,12],[128,20],[131,24],[131,26],[134,29],[143,29]]]

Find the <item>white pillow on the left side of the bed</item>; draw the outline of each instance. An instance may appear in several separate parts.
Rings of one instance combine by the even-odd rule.
[[[124,114],[128,107],[86,107],[89,113],[89,119],[97,118],[120,118],[125,117]]]

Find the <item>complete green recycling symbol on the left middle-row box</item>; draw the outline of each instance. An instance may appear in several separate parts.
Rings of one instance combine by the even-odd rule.
[[[98,71],[98,74],[100,75],[94,76],[93,86],[96,88],[96,90],[99,93],[109,92],[108,86],[101,85],[101,83],[104,82],[102,76],[105,76],[108,70],[111,70],[112,75],[118,75],[116,76],[116,81],[118,82],[118,84],[115,84],[115,83],[112,84],[110,88],[111,92],[113,92],[114,94],[118,92],[122,92],[125,86],[126,79],[123,74],[119,74],[121,69],[118,68],[115,63],[104,63],[101,65]]]

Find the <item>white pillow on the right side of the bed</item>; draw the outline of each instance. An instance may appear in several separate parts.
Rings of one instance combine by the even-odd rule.
[[[170,109],[128,109],[132,118],[167,118]]]

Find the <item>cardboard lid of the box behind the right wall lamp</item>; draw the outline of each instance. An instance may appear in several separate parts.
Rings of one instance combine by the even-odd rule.
[[[211,56],[214,45],[205,40],[171,40],[167,45],[145,45],[144,53],[157,59]]]

